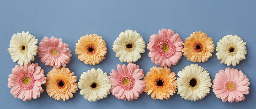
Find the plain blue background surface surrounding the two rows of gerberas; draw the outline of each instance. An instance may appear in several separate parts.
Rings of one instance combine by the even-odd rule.
[[[103,1],[103,0],[102,0]],[[255,0],[186,0],[186,1],[147,1],[147,0],[128,0],[128,1],[84,1],[74,0],[5,0],[0,4],[0,105],[2,109],[32,109],[32,108],[56,108],[56,109],[131,109],[131,108],[148,108],[148,109],[215,109],[215,108],[256,108],[256,1]],[[12,68],[17,64],[13,62],[7,50],[10,44],[11,36],[18,32],[29,31],[36,36],[38,43],[44,36],[62,38],[63,42],[69,44],[72,51],[71,61],[67,67],[75,72],[80,79],[80,74],[91,68],[101,68],[104,72],[109,73],[111,69],[117,69],[117,64],[121,63],[115,57],[112,50],[114,40],[125,30],[137,30],[144,38],[146,43],[149,42],[150,35],[158,34],[158,30],[163,28],[172,29],[181,36],[185,41],[186,37],[194,31],[201,30],[213,38],[216,48],[217,42],[225,35],[238,35],[247,44],[246,59],[240,61],[235,67],[242,70],[249,78],[250,94],[245,95],[245,101],[239,103],[222,102],[216,95],[210,91],[204,99],[199,101],[187,101],[181,99],[179,94],[174,94],[171,99],[154,100],[150,95],[141,94],[139,99],[134,101],[119,100],[112,94],[106,99],[97,102],[89,102],[79,94],[80,89],[74,94],[74,98],[67,101],[57,101],[48,96],[46,91],[38,99],[23,102],[16,99],[10,94],[11,88],[7,87],[8,75],[12,73]],[[102,36],[107,43],[107,55],[100,64],[87,65],[77,59],[75,54],[75,43],[82,35],[98,34]],[[38,44],[37,44],[38,45]],[[146,74],[152,66],[156,66],[148,57],[149,50],[146,49],[142,57],[135,64]],[[228,66],[219,64],[216,57],[216,51],[213,56],[204,63],[198,63],[206,68],[213,80],[214,75],[221,69]],[[45,66],[38,56],[33,63],[39,63],[44,69],[44,74],[52,69]],[[177,74],[185,66],[195,64],[183,56],[177,65],[173,65],[172,72]],[[45,90],[45,85],[43,85]]]

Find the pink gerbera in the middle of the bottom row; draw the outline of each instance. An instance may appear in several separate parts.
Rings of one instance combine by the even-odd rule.
[[[117,99],[132,101],[138,99],[145,88],[145,82],[140,80],[144,77],[144,72],[139,69],[139,65],[129,63],[117,65],[117,70],[112,69],[110,80],[112,80],[112,89],[110,92]]]

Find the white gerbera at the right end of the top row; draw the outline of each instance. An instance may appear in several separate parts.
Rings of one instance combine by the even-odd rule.
[[[239,64],[242,59],[245,59],[246,42],[237,35],[226,35],[217,43],[216,53],[220,64],[225,63],[228,66]]]

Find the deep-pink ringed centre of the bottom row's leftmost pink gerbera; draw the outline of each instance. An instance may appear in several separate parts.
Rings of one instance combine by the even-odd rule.
[[[32,74],[23,74],[19,77],[18,85],[23,90],[32,89],[35,84],[35,79]]]

